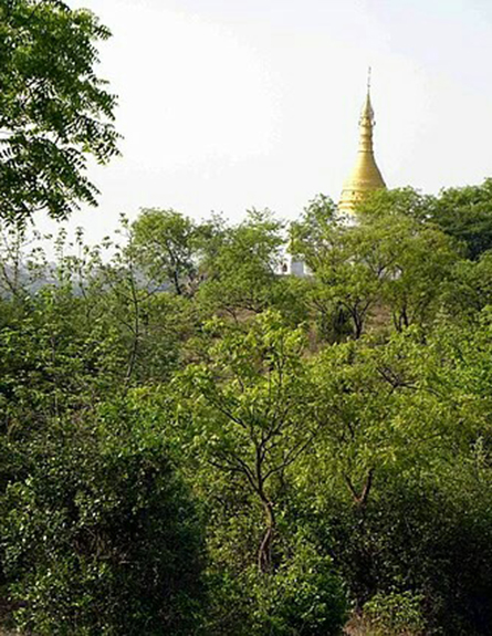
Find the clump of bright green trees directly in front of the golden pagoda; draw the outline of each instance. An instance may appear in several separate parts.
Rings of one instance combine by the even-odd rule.
[[[358,338],[385,311],[399,331],[435,319],[458,253],[418,218],[422,206],[412,190],[377,192],[349,225],[321,198],[292,226],[291,250],[316,278],[310,300],[324,338],[349,334],[348,321]]]

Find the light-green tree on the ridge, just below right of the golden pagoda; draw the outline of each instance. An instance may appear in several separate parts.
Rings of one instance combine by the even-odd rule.
[[[397,330],[423,325],[462,257],[460,242],[432,218],[435,199],[411,188],[374,192],[359,204],[359,244],[383,275],[381,300]]]

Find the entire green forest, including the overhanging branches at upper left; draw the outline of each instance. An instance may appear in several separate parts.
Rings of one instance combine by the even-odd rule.
[[[0,633],[492,634],[492,179],[88,244],[109,31],[0,33]]]

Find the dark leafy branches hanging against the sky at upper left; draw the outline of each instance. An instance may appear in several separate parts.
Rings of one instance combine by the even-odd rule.
[[[109,31],[61,0],[0,0],[0,218],[96,205],[87,155],[117,154],[116,98],[94,66]]]

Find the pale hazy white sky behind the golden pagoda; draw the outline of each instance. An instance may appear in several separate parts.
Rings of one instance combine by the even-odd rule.
[[[97,240],[140,207],[295,217],[337,198],[367,66],[389,187],[492,176],[491,0],[72,0],[113,31],[100,74],[123,157],[93,168]]]

